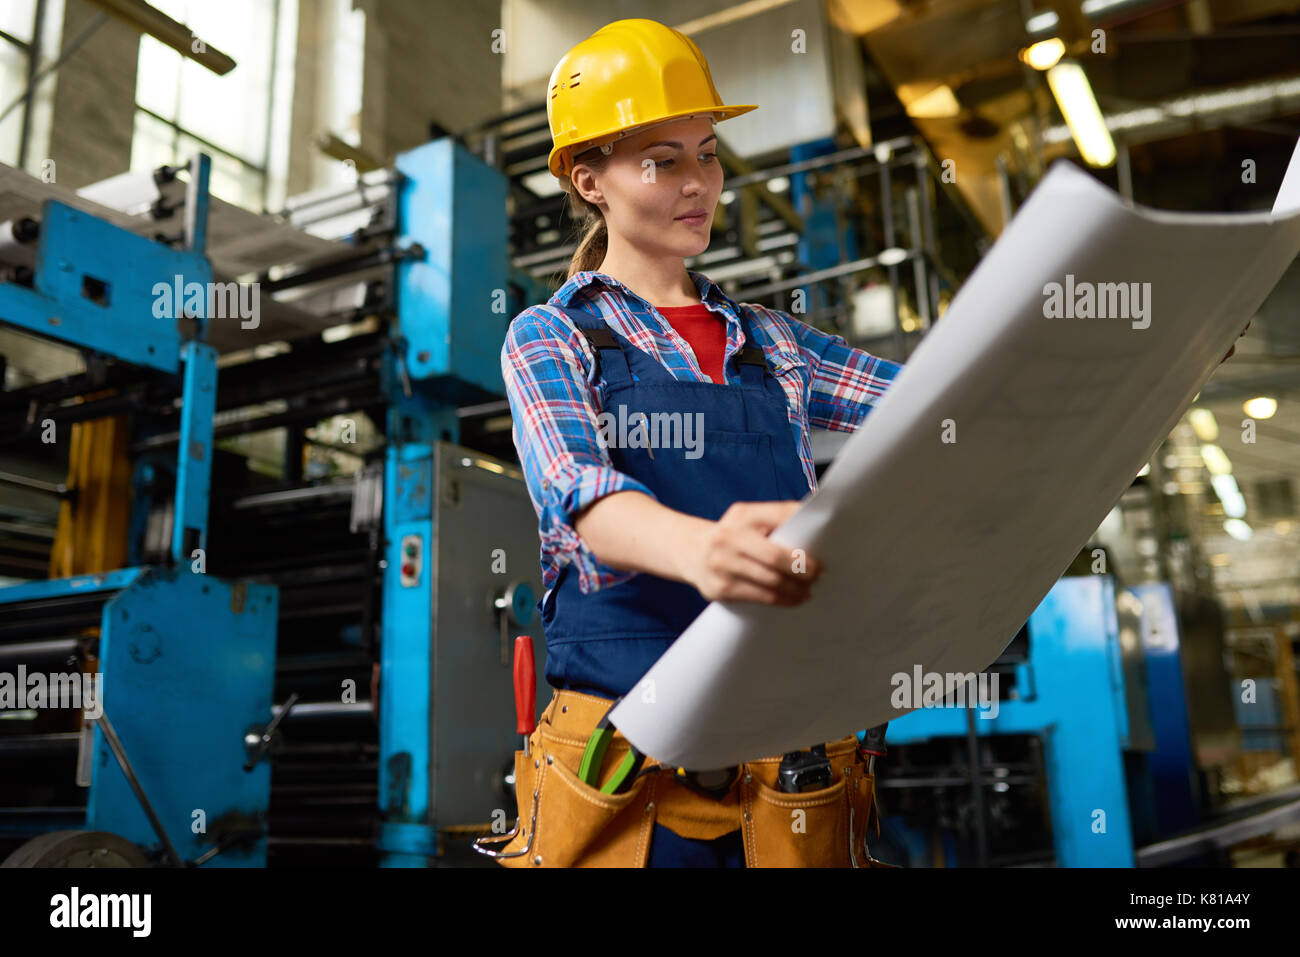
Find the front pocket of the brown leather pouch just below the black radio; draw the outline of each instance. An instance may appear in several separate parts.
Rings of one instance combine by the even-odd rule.
[[[746,866],[852,867],[849,784],[837,775],[828,788],[785,793],[746,779],[741,784]]]

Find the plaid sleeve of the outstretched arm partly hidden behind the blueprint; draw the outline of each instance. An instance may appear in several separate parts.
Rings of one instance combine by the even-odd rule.
[[[885,394],[901,363],[854,348],[842,335],[824,333],[786,313],[796,341],[809,360],[809,424],[853,432]]]

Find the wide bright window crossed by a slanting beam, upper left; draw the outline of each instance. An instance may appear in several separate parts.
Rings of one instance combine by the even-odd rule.
[[[182,57],[152,36],[140,38],[135,75],[131,170],[212,157],[212,192],[247,209],[263,209],[270,189],[272,117],[277,40],[296,14],[285,0],[152,0],[237,64],[224,77]],[[292,8],[292,9],[283,9]],[[282,87],[281,87],[282,88]]]

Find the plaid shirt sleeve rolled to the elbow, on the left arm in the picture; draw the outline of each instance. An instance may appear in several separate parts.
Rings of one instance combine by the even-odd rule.
[[[590,360],[582,335],[545,307],[530,307],[510,325],[500,352],[515,447],[538,516],[543,585],[551,588],[572,562],[584,593],[627,581],[636,572],[604,564],[573,528],[575,516],[615,492],[650,489],[614,468],[601,445]]]

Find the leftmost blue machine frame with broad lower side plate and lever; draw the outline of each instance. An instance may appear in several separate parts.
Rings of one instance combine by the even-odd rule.
[[[49,199],[31,276],[0,285],[0,321],[165,373],[181,395],[165,560],[0,589],[6,671],[48,666],[103,681],[101,714],[87,710],[83,728],[73,720],[69,729],[29,732],[51,727],[48,715],[4,715],[16,719],[4,723],[4,758],[48,762],[48,778],[30,768],[0,775],[4,835],[42,833],[17,856],[31,866],[94,863],[110,852],[126,859],[130,845],[176,866],[265,861],[270,770],[247,745],[260,742],[270,718],[277,593],[198,573],[208,544],[216,351],[203,335],[204,296],[188,315],[156,309],[156,282],[212,283],[208,159],[196,157],[188,173],[176,248]]]

